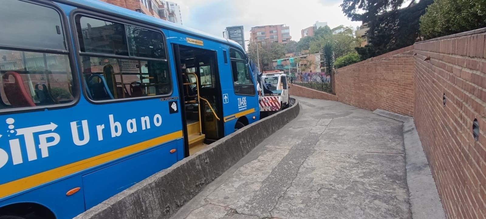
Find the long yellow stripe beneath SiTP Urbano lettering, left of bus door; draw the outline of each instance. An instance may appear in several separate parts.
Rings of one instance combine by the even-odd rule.
[[[0,185],[0,198],[15,194],[25,189],[35,187],[37,185],[49,183],[53,180],[68,176],[81,170],[96,167],[100,164],[104,164],[106,162],[113,161],[126,155],[140,152],[156,145],[160,145],[164,142],[168,142],[181,137],[182,131],[177,131],[168,135],[163,135],[147,141],[140,142],[138,144],[127,146],[112,152],[106,152],[98,156],[74,162],[62,167],[47,170],[45,172],[37,173],[35,175],[8,182],[6,184],[2,184]]]

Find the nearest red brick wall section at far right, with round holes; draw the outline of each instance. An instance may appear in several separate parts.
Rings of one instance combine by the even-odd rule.
[[[485,32],[414,47],[415,123],[449,219],[486,219]],[[472,135],[474,118],[478,141]]]

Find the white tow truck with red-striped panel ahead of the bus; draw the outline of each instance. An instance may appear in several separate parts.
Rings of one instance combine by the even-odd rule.
[[[258,83],[260,112],[280,111],[289,106],[288,76],[283,71],[264,71]]]

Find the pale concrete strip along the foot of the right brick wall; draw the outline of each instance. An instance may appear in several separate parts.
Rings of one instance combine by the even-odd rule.
[[[429,162],[415,128],[414,118],[377,109],[374,114],[403,122],[403,142],[413,219],[445,219]]]

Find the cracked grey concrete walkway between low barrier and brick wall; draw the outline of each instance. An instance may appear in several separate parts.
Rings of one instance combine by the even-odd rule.
[[[402,122],[297,99],[297,118],[171,219],[411,219]]]

